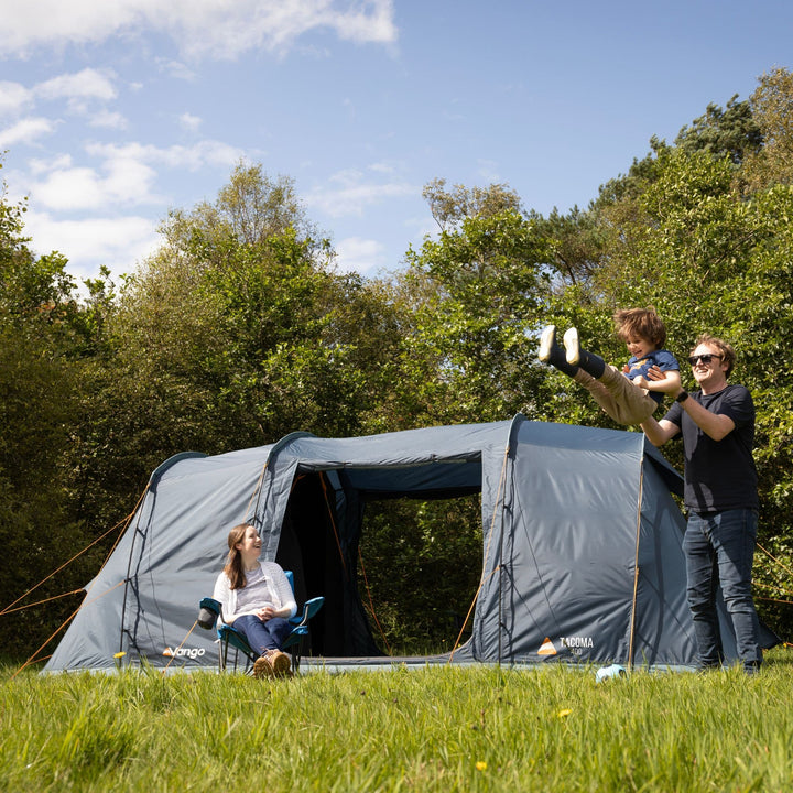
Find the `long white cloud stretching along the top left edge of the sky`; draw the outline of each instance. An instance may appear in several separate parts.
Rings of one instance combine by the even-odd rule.
[[[397,41],[392,0],[0,0],[0,55],[41,45],[86,44],[152,30],[192,57],[233,58],[248,50],[284,52],[327,29],[345,41]]]

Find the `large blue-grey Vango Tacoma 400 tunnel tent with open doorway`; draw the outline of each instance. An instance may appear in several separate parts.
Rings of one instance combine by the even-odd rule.
[[[641,433],[520,414],[180,454],[151,475],[46,671],[113,669],[117,653],[124,664],[215,666],[214,637],[188,631],[222,567],[228,531],[243,520],[260,529],[262,556],[294,572],[298,604],[325,597],[312,622],[315,661],[390,663],[356,585],[367,502],[476,492],[484,543],[472,634],[433,661],[691,665],[684,519],[673,498],[681,490]]]

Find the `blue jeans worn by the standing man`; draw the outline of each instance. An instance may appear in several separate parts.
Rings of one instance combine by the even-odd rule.
[[[751,595],[751,572],[758,514],[737,509],[688,515],[683,550],[686,556],[687,597],[694,621],[699,666],[721,663],[716,612],[719,584],[736,634],[738,658],[756,671],[762,662],[760,626]]]

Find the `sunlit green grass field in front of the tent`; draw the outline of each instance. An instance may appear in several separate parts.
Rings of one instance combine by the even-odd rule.
[[[0,670],[0,790],[790,791],[793,660],[760,675],[424,667],[292,681]],[[479,765],[477,765],[479,764]]]

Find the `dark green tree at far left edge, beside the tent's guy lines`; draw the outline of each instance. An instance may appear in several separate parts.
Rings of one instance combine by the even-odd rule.
[[[0,195],[0,609],[65,562],[84,535],[70,520],[64,465],[77,415],[85,328],[66,259],[36,257],[23,237],[24,204]],[[78,578],[79,576],[77,576]],[[74,588],[75,576],[66,578]],[[54,590],[36,591],[43,599]],[[47,618],[0,617],[4,647],[30,647],[74,608],[55,604]]]

